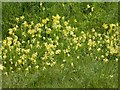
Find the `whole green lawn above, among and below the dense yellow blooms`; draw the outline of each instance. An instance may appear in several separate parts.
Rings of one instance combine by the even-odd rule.
[[[87,9],[87,5],[90,5],[91,8],[94,7],[93,11],[91,8]],[[91,15],[90,15],[91,13]],[[57,62],[53,67],[47,66],[45,62],[50,61],[50,54],[48,54],[49,58],[47,61],[42,61],[42,57],[47,50],[44,46],[45,42],[49,42],[47,39],[37,38],[37,41],[40,41],[40,45],[42,48],[37,49],[36,46],[33,44],[33,48],[30,49],[29,54],[27,55],[28,58],[31,58],[32,54],[38,52],[38,57],[36,57],[37,65],[39,65],[39,69],[35,69],[34,67],[36,64],[31,64],[28,60],[28,63],[25,66],[18,65],[15,67],[14,65],[10,64],[10,59],[13,59],[13,62],[17,62],[19,59],[18,53],[13,51],[9,51],[8,47],[5,47],[8,50],[7,59],[2,60],[3,66],[6,69],[3,71],[2,75],[2,87],[3,88],[118,88],[118,62],[115,61],[116,58],[120,58],[119,55],[116,53],[110,54],[110,50],[107,49],[105,36],[106,33],[109,32],[105,31],[102,27],[104,23],[116,24],[118,22],[118,3],[114,2],[86,2],[86,3],[2,3],[2,40],[7,40],[6,38],[9,35],[9,28],[15,27],[15,25],[21,25],[16,23],[16,17],[24,16],[27,22],[34,21],[34,24],[37,24],[45,19],[46,17],[51,20],[52,16],[56,16],[56,14],[60,15],[61,17],[64,16],[65,20],[69,20],[69,25],[71,27],[77,27],[78,30],[75,31],[75,35],[77,37],[81,36],[84,37],[84,34],[81,34],[81,31],[85,32],[85,39],[84,42],[81,40],[82,47],[78,48],[75,51],[76,43],[74,43],[74,38],[72,36],[67,36],[65,38],[63,33],[55,31],[51,35],[47,36],[46,30],[44,27],[42,28],[42,38],[49,38],[51,37],[54,41],[56,36],[59,36],[59,43],[58,47],[55,49],[60,49],[62,53],[59,55],[53,56],[55,61]],[[75,22],[74,20],[77,20]],[[22,22],[22,21],[21,21]],[[63,21],[61,21],[63,24]],[[52,23],[46,24],[49,27],[52,26]],[[64,28],[64,27],[63,27]],[[95,36],[95,32],[92,33],[92,28],[94,28],[99,34],[101,34],[102,40],[100,37],[96,38],[97,41],[102,43],[102,47],[100,44],[97,44],[96,47],[92,47],[92,50],[89,51],[88,41],[90,39],[89,35]],[[109,27],[110,28],[110,27]],[[23,29],[27,30],[27,29]],[[111,30],[111,29],[110,29]],[[117,30],[116,30],[117,31]],[[87,33],[90,33],[87,35]],[[16,32],[18,36],[18,41],[20,43],[22,40],[25,40],[26,43],[22,44],[20,47],[24,49],[30,48],[30,45],[27,43],[26,38],[21,34],[21,31]],[[54,36],[54,34],[56,36]],[[104,36],[105,35],[105,36]],[[114,32],[110,33],[108,37],[114,35]],[[116,36],[117,37],[117,36]],[[29,35],[29,40],[33,38]],[[76,38],[75,38],[76,39]],[[117,38],[118,39],[118,38]],[[111,39],[110,39],[111,40]],[[112,40],[112,42],[116,42],[116,46],[118,45],[119,41]],[[63,46],[62,46],[63,43]],[[70,46],[70,43],[73,43]],[[11,45],[12,46],[12,45]],[[14,46],[14,45],[13,45]],[[63,49],[66,49],[70,46],[70,57],[68,54],[63,54]],[[116,47],[114,46],[114,47]],[[100,52],[97,52],[97,48],[101,48]],[[3,53],[5,53],[5,49],[3,49]],[[54,48],[53,48],[54,49]],[[55,50],[52,50],[55,52]],[[109,52],[109,55],[106,57],[105,54]],[[51,51],[50,51],[51,53]],[[2,54],[3,55],[3,54]],[[20,55],[23,55],[21,53]],[[105,58],[109,59],[108,62],[104,62],[104,58],[101,58],[101,55],[104,55]],[[15,58],[14,58],[15,56]],[[77,56],[80,56],[77,59]],[[96,58],[98,57],[98,58]],[[28,59],[27,58],[27,59]],[[66,62],[62,60],[66,59]],[[25,59],[26,60],[26,59]],[[7,63],[5,63],[7,62]],[[72,65],[73,63],[73,65]],[[61,64],[64,64],[64,68],[61,68]],[[30,70],[25,70],[28,66],[32,68]],[[13,71],[10,70],[10,67],[13,67]],[[43,70],[43,67],[46,67]],[[21,70],[18,70],[21,68]],[[6,75],[6,73],[8,73]]]

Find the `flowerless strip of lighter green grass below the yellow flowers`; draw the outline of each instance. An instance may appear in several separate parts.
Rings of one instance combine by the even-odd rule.
[[[86,63],[87,62],[87,63]],[[19,71],[3,76],[3,87],[12,88],[117,88],[117,63],[81,60],[75,68],[59,66],[32,73]],[[26,75],[26,76],[25,76]],[[111,77],[110,75],[113,75]],[[7,82],[6,82],[7,81]]]

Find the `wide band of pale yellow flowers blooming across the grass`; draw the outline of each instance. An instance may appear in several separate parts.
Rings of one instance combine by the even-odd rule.
[[[3,65],[0,69],[5,72],[31,68],[45,70],[57,63],[64,68],[66,62],[74,67],[81,56],[92,56],[104,62],[118,61],[118,23],[104,23],[101,32],[95,28],[81,31],[71,27],[69,20],[65,21],[65,17],[58,14],[52,16],[52,20],[45,18],[37,24],[25,21],[24,16],[16,18],[16,22],[2,42]]]

